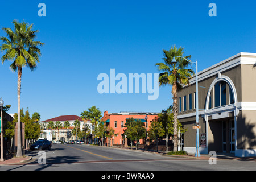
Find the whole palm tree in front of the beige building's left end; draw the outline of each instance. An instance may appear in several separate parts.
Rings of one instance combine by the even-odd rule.
[[[162,73],[159,74],[159,86],[162,85],[172,85],[172,99],[173,99],[173,108],[174,113],[174,151],[177,151],[177,90],[181,90],[183,85],[189,85],[189,78],[191,78],[193,69],[188,69],[190,63],[185,59],[190,59],[191,55],[184,56],[184,48],[180,47],[177,49],[176,46],[170,48],[170,50],[163,50],[164,53],[164,63],[156,63],[158,70]],[[177,57],[177,63],[172,63],[174,56]]]

